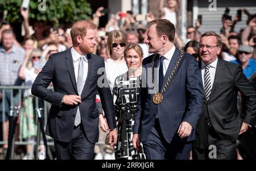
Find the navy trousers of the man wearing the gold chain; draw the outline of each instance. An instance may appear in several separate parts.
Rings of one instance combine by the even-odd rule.
[[[188,160],[191,148],[191,142],[168,143],[164,139],[158,119],[155,120],[150,135],[143,143],[148,160]]]

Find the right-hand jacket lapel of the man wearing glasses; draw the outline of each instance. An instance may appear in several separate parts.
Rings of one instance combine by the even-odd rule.
[[[223,74],[223,70],[224,70],[224,63],[222,62],[221,59],[218,59],[217,62],[217,66],[216,66],[216,72],[215,72],[215,78],[213,81],[213,86],[212,86],[212,93],[210,93],[210,97],[209,97],[209,101],[211,101],[212,99],[214,99],[214,94],[216,94],[216,82],[221,82],[221,76]]]

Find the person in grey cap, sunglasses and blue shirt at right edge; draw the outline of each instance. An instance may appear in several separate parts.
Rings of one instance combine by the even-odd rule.
[[[240,45],[238,48],[238,60],[232,61],[242,66],[243,73],[247,79],[256,72],[256,60],[252,56],[253,51],[249,45]]]

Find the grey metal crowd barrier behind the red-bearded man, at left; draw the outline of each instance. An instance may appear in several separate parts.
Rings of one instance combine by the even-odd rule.
[[[53,87],[49,87],[49,89],[53,89]],[[6,107],[5,107],[5,103],[6,103],[6,95],[7,95],[7,91],[10,91],[10,107],[13,109],[14,107],[18,107],[20,106],[20,109],[22,109],[22,100],[23,100],[23,93],[24,90],[31,90],[30,86],[0,86],[0,101],[2,100],[2,118],[0,118],[0,123],[2,124],[2,132],[0,133],[1,137],[0,137],[0,145],[3,144],[7,144],[8,140],[5,140],[5,128],[4,128],[4,122],[5,120],[7,120],[6,118]],[[18,91],[18,105],[15,106],[14,105],[14,98],[17,97],[15,95],[14,97],[14,91]],[[2,95],[1,95],[2,94]],[[45,130],[46,128],[46,123],[47,123],[47,114],[49,111],[49,108],[51,107],[51,103],[48,103],[46,101],[43,101],[43,107],[39,106],[39,98],[38,97],[34,97],[35,98],[35,108],[34,108],[34,117],[35,117],[35,124],[37,126],[37,135],[35,137],[35,140],[33,141],[27,141],[24,140],[23,137],[21,135],[19,135],[20,132],[15,132],[14,135],[19,135],[18,139],[17,136],[13,137],[13,151],[14,151],[14,146],[15,145],[27,145],[27,144],[31,144],[32,148],[38,147],[36,150],[39,151],[39,147],[40,145],[44,145],[44,142],[42,140],[42,132],[40,131],[40,123],[43,123],[43,128]],[[12,112],[12,110],[10,110],[10,112]],[[20,110],[20,112],[22,112]],[[10,116],[10,113],[9,113]],[[19,127],[19,125],[17,125],[16,127]],[[8,130],[7,130],[8,132]],[[43,137],[43,139],[47,140],[47,146],[53,146],[53,139],[49,136]],[[100,145],[100,149],[101,152],[104,153],[104,150],[102,148],[102,146],[105,144],[104,141],[99,141],[98,143],[96,143],[98,145]],[[47,147],[46,147],[47,149]],[[10,159],[13,159],[13,151],[11,153],[11,157]],[[34,150],[33,150],[34,151]],[[48,159],[52,159],[52,154],[49,152],[48,149],[48,153],[46,154],[46,156],[48,155]],[[47,158],[47,157],[46,157]],[[35,156],[35,159],[38,159],[37,153]]]

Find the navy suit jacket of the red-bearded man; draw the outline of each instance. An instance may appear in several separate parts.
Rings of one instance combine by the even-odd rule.
[[[91,53],[87,54],[87,59],[88,75],[81,93],[82,103],[79,105],[61,104],[61,99],[64,95],[79,95],[71,49],[52,54],[32,86],[31,91],[33,95],[52,103],[48,115],[46,134],[56,141],[68,143],[72,140],[72,134],[75,130],[73,127],[77,106],[79,106],[81,114],[80,128],[83,134],[85,134],[86,140],[92,144],[98,141],[97,90],[101,97],[109,128],[113,129],[116,127],[113,98],[110,89],[109,87],[98,87],[97,82],[99,77],[105,78],[103,73],[97,74],[98,69],[105,68],[104,60],[100,56]],[[51,82],[54,91],[47,89]]]

